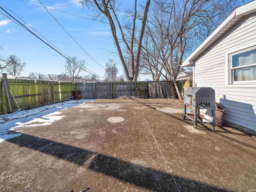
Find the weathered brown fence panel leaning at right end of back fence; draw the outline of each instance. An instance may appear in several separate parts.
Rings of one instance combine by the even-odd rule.
[[[175,98],[173,82],[154,82],[149,84],[149,95],[153,99]]]

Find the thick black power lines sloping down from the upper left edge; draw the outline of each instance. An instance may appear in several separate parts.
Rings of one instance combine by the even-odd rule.
[[[9,18],[10,20],[12,20],[13,22],[15,22],[16,24],[18,24],[20,27],[24,28],[26,31],[30,32],[31,34],[33,34],[34,36],[36,36],[38,39],[40,39],[42,42],[44,42],[46,45],[48,45],[50,48],[52,48],[53,50],[55,50],[56,52],[58,52],[61,56],[63,56],[66,60],[72,62],[73,64],[75,64],[76,66],[78,66],[79,68],[81,68],[82,70],[92,74],[92,75],[96,75],[99,78],[105,78],[102,76],[99,76],[98,74],[92,72],[91,70],[87,69],[87,68],[82,68],[81,66],[79,66],[78,64],[76,64],[73,60],[70,59],[69,56],[67,56],[67,54],[62,54],[60,51],[58,51],[57,49],[55,49],[54,47],[52,47],[50,44],[48,44],[47,42],[45,42],[44,40],[42,40],[39,36],[37,36],[36,34],[34,34],[34,32],[32,32],[31,30],[29,30],[26,26],[24,26],[24,24],[20,23],[16,18],[14,18],[11,14],[9,14],[8,12],[6,12],[2,6],[0,6],[0,9],[3,10],[6,14],[8,14],[9,16],[7,16],[6,14],[4,14],[3,12],[0,11],[0,13],[2,13],[4,16],[6,16],[7,18]],[[25,22],[26,23],[26,22]],[[48,41],[48,40],[47,40]],[[49,42],[49,41],[48,41]],[[52,44],[52,43],[51,43]],[[55,46],[56,47],[56,46]],[[60,50],[60,49],[59,49]],[[66,55],[66,56],[65,56]]]

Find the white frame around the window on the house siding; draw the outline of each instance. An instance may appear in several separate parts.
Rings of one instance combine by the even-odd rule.
[[[247,66],[238,66],[238,67],[232,67],[232,55],[239,54],[242,52],[246,52],[248,50],[252,50],[256,48],[256,42],[247,44],[245,46],[241,46],[239,48],[236,48],[234,50],[225,52],[225,86],[226,87],[256,87],[256,81],[233,81],[233,74],[232,69],[236,68],[244,68],[249,66],[255,66],[256,64],[250,64]]]

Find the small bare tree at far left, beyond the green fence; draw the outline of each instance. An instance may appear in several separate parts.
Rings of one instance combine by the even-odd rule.
[[[8,56],[4,62],[5,67],[3,70],[8,75],[19,76],[26,66],[26,62],[21,62],[20,58],[15,55]]]

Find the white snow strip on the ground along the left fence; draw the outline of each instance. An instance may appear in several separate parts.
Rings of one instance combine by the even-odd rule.
[[[91,101],[94,100],[65,101],[31,110],[17,111],[13,114],[0,115],[0,142],[22,135],[16,129],[52,124],[52,122],[64,118],[64,116],[60,116],[61,110]]]

